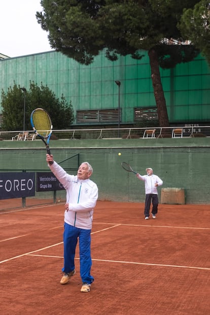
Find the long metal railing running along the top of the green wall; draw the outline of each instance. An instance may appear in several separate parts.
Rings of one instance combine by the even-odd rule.
[[[174,130],[180,131],[176,133]],[[94,128],[53,130],[51,139],[106,139],[106,138],[149,138],[147,130],[153,130],[153,138],[170,137],[206,137],[210,136],[210,126],[173,126],[173,127],[142,127],[142,128]],[[23,131],[0,131],[1,141],[34,141],[39,137],[18,137]],[[33,130],[27,130],[33,135]],[[19,140],[17,140],[19,139]]]

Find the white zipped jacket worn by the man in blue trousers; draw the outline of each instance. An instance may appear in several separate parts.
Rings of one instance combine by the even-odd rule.
[[[66,203],[69,205],[68,211],[64,213],[64,221],[77,228],[90,230],[98,198],[97,185],[90,179],[79,180],[77,176],[69,175],[55,161],[49,167],[66,190]]]

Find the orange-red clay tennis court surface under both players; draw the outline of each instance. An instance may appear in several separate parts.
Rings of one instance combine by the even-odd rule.
[[[98,201],[89,293],[76,274],[60,285],[64,204],[1,211],[1,314],[210,313],[209,205]],[[151,218],[151,217],[150,217]]]

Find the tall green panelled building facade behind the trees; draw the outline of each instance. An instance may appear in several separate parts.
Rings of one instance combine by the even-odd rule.
[[[149,57],[144,53],[141,60],[120,56],[112,62],[101,52],[89,66],[55,51],[0,60],[0,89],[7,91],[14,81],[26,89],[30,81],[42,82],[57,97],[63,94],[72,101],[76,114],[117,109],[119,80],[121,122],[129,124],[134,122],[134,108],[156,107]],[[204,58],[199,55],[173,69],[160,68],[160,74],[170,123],[210,121],[210,68]]]

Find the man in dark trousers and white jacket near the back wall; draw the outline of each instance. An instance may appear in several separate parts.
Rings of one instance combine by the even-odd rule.
[[[152,217],[153,219],[156,218],[158,212],[158,191],[157,187],[163,184],[163,181],[157,176],[153,174],[153,169],[151,167],[146,168],[147,175],[140,175],[139,173],[136,174],[136,177],[139,180],[145,182],[145,220],[149,219],[150,216],[150,205],[152,200]]]

